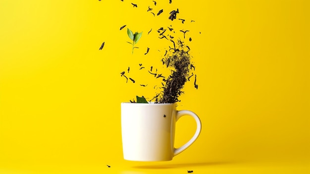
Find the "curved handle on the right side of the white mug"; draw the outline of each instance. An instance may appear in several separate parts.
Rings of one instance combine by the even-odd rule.
[[[191,111],[188,111],[188,110],[177,111],[176,121],[181,116],[192,116],[192,117],[194,117],[194,119],[196,120],[196,123],[197,123],[197,129],[196,129],[196,132],[195,132],[194,136],[187,143],[185,143],[183,146],[181,146],[179,148],[174,148],[173,156],[178,155],[179,153],[181,153],[185,149],[187,149],[190,145],[192,145],[194,143],[194,141],[198,138],[198,136],[199,136],[199,134],[201,132],[201,121],[200,121],[199,117],[195,113],[193,113]]]

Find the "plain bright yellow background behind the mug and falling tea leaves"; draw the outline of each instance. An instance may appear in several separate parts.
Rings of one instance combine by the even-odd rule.
[[[0,174],[310,170],[310,1],[156,1],[0,0]],[[168,20],[176,8],[184,24]],[[190,30],[199,88],[188,82],[178,109],[201,135],[170,162],[124,161],[120,103],[154,96],[139,84],[158,82],[146,70],[162,68],[172,45],[156,30],[170,25]],[[127,27],[143,31],[133,55]],[[176,146],[195,129],[182,117]]]

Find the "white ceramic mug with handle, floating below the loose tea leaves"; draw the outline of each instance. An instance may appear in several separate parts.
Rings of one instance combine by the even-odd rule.
[[[194,136],[174,148],[175,123],[181,116],[192,116],[197,123]],[[170,161],[198,138],[199,117],[176,104],[121,103],[123,155],[129,161]]]

